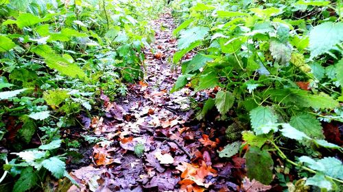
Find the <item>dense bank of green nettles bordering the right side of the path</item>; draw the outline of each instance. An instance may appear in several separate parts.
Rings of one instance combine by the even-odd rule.
[[[342,155],[342,148],[324,140],[322,124],[343,122],[342,3],[287,3],[176,2],[174,14],[182,23],[174,31],[174,63],[189,51],[196,55],[182,62],[171,91],[187,83],[197,92],[216,87],[197,118],[216,108],[222,120],[233,122],[227,136],[235,142],[220,156],[249,146],[249,178],[270,184],[276,174],[285,181],[283,175],[295,168],[294,189],[338,190],[342,162],[323,154]],[[242,128],[246,122],[250,131]],[[272,156],[285,164],[274,165]]]

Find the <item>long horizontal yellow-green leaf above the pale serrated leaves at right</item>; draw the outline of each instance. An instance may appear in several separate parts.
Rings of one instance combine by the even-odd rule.
[[[285,105],[297,105],[298,107],[313,107],[314,109],[333,109],[340,106],[338,101],[327,94],[311,94],[300,89],[271,90],[269,92],[278,102]]]

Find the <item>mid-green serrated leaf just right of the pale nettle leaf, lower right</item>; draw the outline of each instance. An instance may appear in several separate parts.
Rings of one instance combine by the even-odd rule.
[[[324,138],[319,120],[309,113],[300,113],[299,115],[292,116],[289,124],[311,138]]]

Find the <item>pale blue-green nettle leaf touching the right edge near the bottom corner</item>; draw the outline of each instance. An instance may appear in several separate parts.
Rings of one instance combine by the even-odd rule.
[[[318,172],[322,172],[327,176],[333,178],[343,179],[343,164],[339,159],[334,157],[324,157],[318,161],[311,159],[309,156],[300,156],[299,161],[306,163],[308,167]]]

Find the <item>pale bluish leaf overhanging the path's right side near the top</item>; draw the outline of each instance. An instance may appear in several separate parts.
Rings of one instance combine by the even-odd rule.
[[[180,32],[180,38],[178,40],[178,49],[186,49],[193,42],[203,40],[204,37],[209,33],[207,27],[192,27]]]

